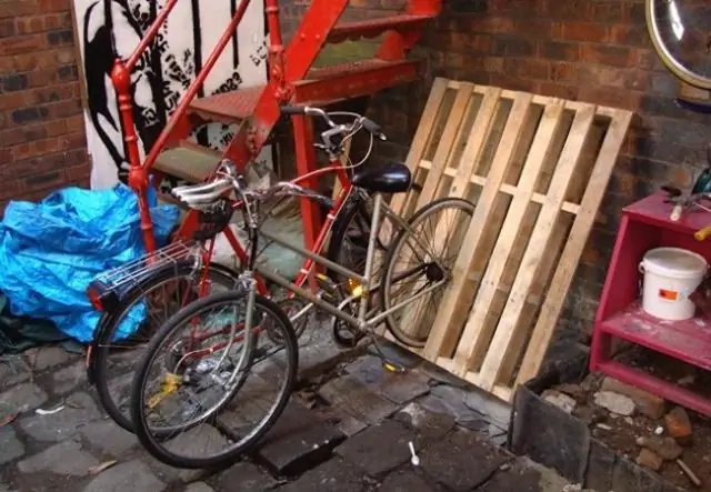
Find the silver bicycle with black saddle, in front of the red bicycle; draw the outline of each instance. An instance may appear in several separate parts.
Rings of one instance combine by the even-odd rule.
[[[286,107],[282,111],[328,118],[316,108]],[[374,125],[364,117],[352,124],[354,131],[357,125]],[[250,254],[238,289],[209,294],[176,313],[153,337],[139,362],[131,393],[132,421],[140,442],[156,458],[181,468],[226,464],[254,445],[283,411],[296,378],[298,348],[289,318],[258,293],[258,275],[304,299],[308,302],[304,310],[326,311],[353,332],[373,334],[384,323],[390,329],[395,327],[409,344],[424,344],[440,299],[452,279],[474,204],[443,198],[428,203],[408,219],[399,217],[383,194],[411,189],[411,172],[401,163],[358,169],[352,183],[373,198],[363,273],[259,230],[260,204],[284,195],[314,197],[318,194],[314,190],[290,182],[250,189],[229,161],[221,163],[212,182],[173,189],[173,194],[192,209],[219,207],[228,213],[240,210]],[[394,225],[381,228],[385,218],[389,219],[385,223]],[[260,237],[347,278],[349,292],[336,302],[337,298],[327,299],[277,272],[257,269],[254,257]],[[381,251],[377,248],[379,241],[388,244],[384,254],[377,253]],[[201,334],[196,335],[197,332]],[[223,340],[218,342],[218,338]],[[167,355],[161,358],[161,351]],[[279,383],[272,380],[277,372],[273,368],[256,369],[257,361],[263,360],[264,354],[277,352],[281,352],[278,362],[267,367],[288,368],[287,378]],[[158,384],[151,380],[154,369]],[[184,386],[190,391],[180,410],[173,396]],[[268,391],[276,392],[276,398],[270,398],[269,403],[256,404]],[[208,393],[212,395],[210,403],[198,402]],[[157,412],[157,394],[168,394],[168,410],[162,413]],[[161,413],[160,419],[157,413]],[[163,421],[164,414],[170,421]],[[177,415],[184,416],[186,421],[176,423],[172,419]],[[246,425],[246,421],[250,424]],[[190,433],[190,436],[180,441],[180,433]],[[203,434],[214,438],[209,450],[194,452],[194,445],[177,444],[186,441],[194,444]],[[186,455],[189,450],[193,455]]]

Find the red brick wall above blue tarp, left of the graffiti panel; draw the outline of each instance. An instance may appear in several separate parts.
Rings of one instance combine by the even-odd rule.
[[[0,207],[88,184],[70,0],[0,0]]]

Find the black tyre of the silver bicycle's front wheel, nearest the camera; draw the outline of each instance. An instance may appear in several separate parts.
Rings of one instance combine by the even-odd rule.
[[[170,320],[161,327],[159,332],[151,339],[148,350],[141,357],[141,361],[138,364],[136,376],[133,379],[133,384],[131,388],[131,420],[136,423],[136,435],[138,436],[139,442],[143,445],[143,448],[146,448],[149,453],[151,453],[156,459],[162,461],[163,463],[167,463],[171,466],[184,469],[220,468],[227,465],[234,461],[234,459],[237,459],[239,455],[249,451],[254,444],[257,444],[257,442],[264,435],[264,433],[267,433],[273,426],[273,424],[277,422],[284,408],[287,406],[287,403],[289,402],[297,378],[297,369],[299,365],[299,348],[297,337],[293,332],[291,321],[289,321],[289,318],[279,308],[279,305],[273,301],[257,294],[254,298],[254,302],[260,307],[260,309],[271,311],[271,314],[274,315],[274,318],[284,329],[284,332],[282,334],[283,340],[281,340],[281,342],[284,343],[287,350],[287,380],[280,391],[278,402],[268,419],[262,422],[257,431],[253,431],[251,433],[251,436],[244,443],[217,458],[187,458],[177,455],[160,445],[148,429],[146,414],[142,411],[146,403],[142,390],[146,384],[146,379],[148,376],[151,362],[156,358],[156,352],[160,349],[162,340],[169,337],[172,330],[180,327],[180,324],[183,323],[187,319],[194,317],[203,309],[209,308],[213,304],[219,305],[220,303],[224,303],[231,300],[239,301],[244,295],[247,295],[244,291],[219,292],[207,295],[188,304],[176,314],[173,314]],[[238,391],[239,388],[234,390],[234,392],[232,392],[227,402],[234,398],[234,394]]]

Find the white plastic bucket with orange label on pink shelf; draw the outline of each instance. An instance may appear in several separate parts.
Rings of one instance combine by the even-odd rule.
[[[707,273],[707,260],[681,248],[655,248],[644,254],[640,272],[644,274],[642,309],[662,320],[679,321],[693,317],[689,299]]]

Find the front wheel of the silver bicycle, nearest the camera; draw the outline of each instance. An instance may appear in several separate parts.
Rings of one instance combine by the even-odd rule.
[[[298,367],[293,327],[260,295],[251,330],[246,314],[244,292],[211,294],[180,310],[151,340],[133,379],[131,418],[158,460],[187,469],[229,464],[283,411]]]

